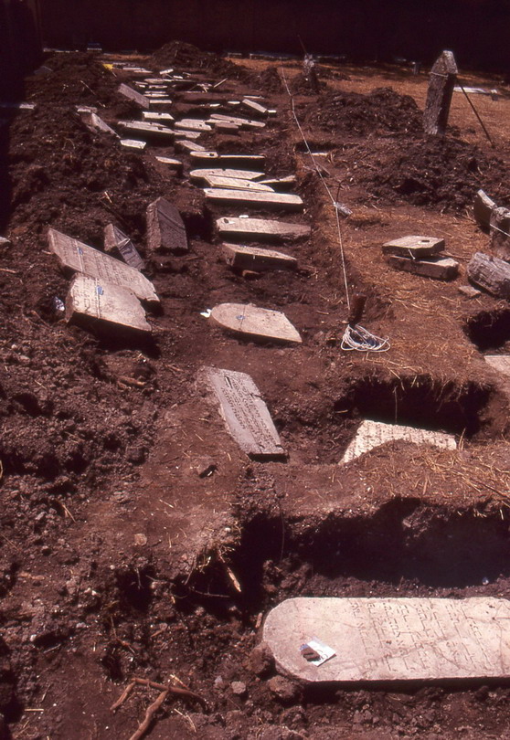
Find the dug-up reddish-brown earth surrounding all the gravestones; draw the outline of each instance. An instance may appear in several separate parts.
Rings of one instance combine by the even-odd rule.
[[[172,147],[129,153],[80,121],[77,104],[96,105],[112,125],[138,115],[115,92],[125,75],[94,55],[56,54],[52,72],[27,79],[37,110],[0,129],[0,224],[12,241],[0,255],[4,735],[127,740],[157,695],[139,686],[113,714],[137,676],[184,682],[207,701],[204,710],[171,696],[154,740],[507,737],[505,682],[291,683],[278,695],[271,662],[251,650],[263,614],[285,597],[510,597],[508,399],[483,362],[508,351],[510,312],[458,291],[471,255],[487,249],[469,210],[475,191],[508,203],[510,101],[476,100],[492,149],[460,98],[446,138],[424,137],[427,78],[404,69],[331,67],[319,96],[299,86],[295,110],[325,155],[325,182],[353,210],[342,222],[349,292],[367,294],[363,323],[391,342],[386,354],[355,355],[340,348],[347,304],[335,215],[303,153],[282,69],[175,42],[135,61],[228,78],[219,88],[228,98],[260,92],[278,111],[266,129],[204,141],[264,152],[271,174],[297,173],[306,210],[288,218],[311,223],[313,236],[283,246],[299,259],[295,274],[229,272],[214,219],[241,211],[207,209],[186,174],[169,174],[154,153]],[[300,73],[285,65],[286,79]],[[152,347],[66,325],[55,298],[69,281],[48,253],[48,227],[101,248],[113,222],[144,254],[145,208],[157,196],[179,208],[191,251],[148,261],[162,299]],[[406,233],[446,238],[461,277],[392,272],[380,245]],[[200,312],[223,301],[285,312],[303,345],[222,333]],[[251,462],[229,438],[196,386],[211,364],[252,375],[287,462]],[[460,449],[399,443],[339,468],[366,417],[451,432]]]

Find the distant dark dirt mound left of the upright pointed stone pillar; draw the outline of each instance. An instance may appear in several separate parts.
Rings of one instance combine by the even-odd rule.
[[[367,95],[342,92],[333,98],[322,96],[317,106],[307,111],[306,120],[324,131],[419,132],[421,113],[409,95],[390,88],[377,88]]]

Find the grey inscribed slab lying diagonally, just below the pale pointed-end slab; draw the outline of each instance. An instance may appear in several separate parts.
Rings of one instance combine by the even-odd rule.
[[[228,431],[253,460],[285,458],[268,407],[250,375],[205,367],[202,377],[217,396]]]

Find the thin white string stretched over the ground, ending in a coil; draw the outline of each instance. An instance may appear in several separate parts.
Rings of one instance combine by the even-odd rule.
[[[321,168],[319,164],[317,164],[317,162],[315,161],[313,152],[310,149],[310,144],[306,140],[306,136],[304,135],[303,128],[296,115],[292,92],[289,88],[287,78],[285,77],[285,72],[282,67],[280,68],[280,71],[282,75],[283,84],[285,85],[287,94],[289,95],[289,98],[291,100],[292,117],[296,123],[296,126],[298,127],[298,131],[301,134],[301,138],[303,139],[306,153],[310,156],[313,162],[313,167],[315,169],[315,172],[319,175],[321,182],[324,185],[325,191],[327,195],[329,196],[329,199],[331,200],[332,206],[335,208],[336,228],[338,231],[338,245],[340,247],[340,256],[342,259],[342,270],[344,273],[345,299],[347,301],[347,309],[350,311],[351,300],[349,297],[347,268],[345,265],[344,240],[342,238],[342,227],[340,226],[340,217],[338,215],[339,212],[343,209],[343,206],[341,206],[339,203],[336,202],[331,192],[331,189],[329,188],[326,181],[324,180],[324,176],[321,172]],[[358,352],[388,352],[388,349],[390,348],[390,346],[391,345],[389,344],[388,338],[382,339],[381,337],[378,337],[375,334],[368,332],[367,329],[364,329],[362,326],[359,326],[357,324],[356,326],[351,326],[350,324],[347,326],[347,328],[345,329],[344,336],[342,337],[342,344],[341,344],[341,348],[345,351],[357,350]]]

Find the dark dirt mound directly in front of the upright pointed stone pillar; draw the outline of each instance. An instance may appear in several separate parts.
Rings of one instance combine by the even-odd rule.
[[[413,206],[463,210],[482,187],[498,203],[508,202],[502,183],[507,166],[477,146],[452,138],[427,137],[381,149],[361,174],[375,196]]]

